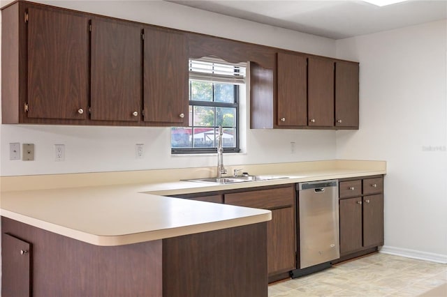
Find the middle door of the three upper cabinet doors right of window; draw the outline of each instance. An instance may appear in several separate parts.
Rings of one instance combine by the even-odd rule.
[[[309,126],[334,125],[334,61],[309,58],[308,118]]]

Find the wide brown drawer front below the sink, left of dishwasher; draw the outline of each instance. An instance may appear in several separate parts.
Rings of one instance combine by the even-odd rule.
[[[295,188],[277,188],[225,195],[225,204],[254,208],[278,208],[295,204]]]

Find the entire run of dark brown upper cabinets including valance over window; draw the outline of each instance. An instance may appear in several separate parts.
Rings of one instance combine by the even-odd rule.
[[[358,129],[358,63],[15,1],[2,123],[186,126],[188,59],[247,62],[251,128]]]

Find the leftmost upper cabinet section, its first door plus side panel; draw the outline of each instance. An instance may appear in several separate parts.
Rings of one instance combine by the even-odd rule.
[[[85,120],[89,19],[19,4],[2,11],[3,123]]]

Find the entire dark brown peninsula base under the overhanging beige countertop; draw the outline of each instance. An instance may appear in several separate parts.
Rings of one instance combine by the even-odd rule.
[[[1,228],[3,297],[268,296],[266,222],[118,246],[4,217]]]

